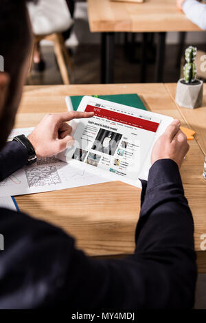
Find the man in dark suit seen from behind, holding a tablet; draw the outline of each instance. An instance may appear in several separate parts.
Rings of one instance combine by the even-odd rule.
[[[6,34],[5,34],[6,32]],[[30,137],[5,144],[14,125],[32,45],[23,0],[1,0],[0,180],[37,157],[72,144],[72,118],[90,113],[47,115]],[[21,50],[19,50],[21,48]],[[188,151],[174,120],[152,151],[148,181],[142,181],[134,254],[95,260],[76,249],[57,227],[27,214],[0,209],[0,308],[67,306],[76,309],[190,309],[194,304],[194,225],[179,168]],[[43,140],[42,140],[43,138]],[[125,214],[126,216],[126,214]]]

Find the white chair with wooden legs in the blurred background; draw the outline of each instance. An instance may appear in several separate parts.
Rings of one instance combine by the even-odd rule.
[[[54,53],[60,74],[64,84],[70,84],[67,67],[72,68],[69,52],[65,46],[62,32],[65,32],[73,24],[69,8],[65,0],[39,0],[35,5],[27,5],[34,32],[34,45],[32,50],[30,69],[34,59],[34,49],[43,39],[52,41]]]

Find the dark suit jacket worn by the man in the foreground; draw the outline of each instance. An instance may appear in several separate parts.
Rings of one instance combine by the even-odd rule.
[[[20,143],[7,144],[0,179],[26,161]],[[59,228],[1,208],[0,308],[192,308],[194,227],[179,169],[170,159],[156,161],[142,183],[134,254],[119,260],[90,258]]]

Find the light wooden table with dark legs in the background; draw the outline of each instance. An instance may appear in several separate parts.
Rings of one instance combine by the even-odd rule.
[[[115,32],[142,32],[142,78],[146,69],[146,33],[158,33],[155,81],[162,82],[166,32],[196,32],[183,12],[176,9],[176,0],[146,0],[124,3],[110,0],[87,0],[91,32],[102,33],[102,82],[113,82]]]

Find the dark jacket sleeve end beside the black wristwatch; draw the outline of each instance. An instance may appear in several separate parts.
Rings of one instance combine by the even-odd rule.
[[[27,149],[20,142],[8,142],[0,152],[0,181],[27,164]]]

